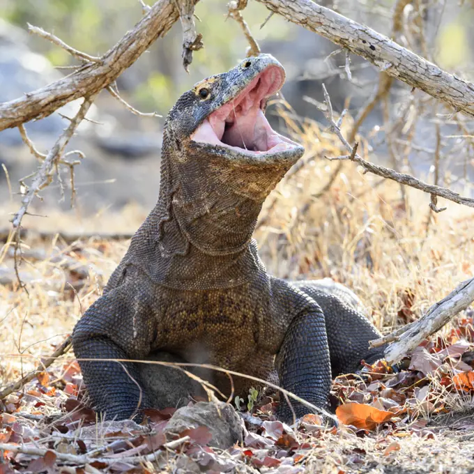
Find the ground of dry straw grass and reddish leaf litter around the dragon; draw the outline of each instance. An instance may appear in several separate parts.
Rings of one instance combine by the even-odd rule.
[[[397,184],[362,174],[353,163],[321,193],[335,167],[323,155],[342,151],[314,123],[287,120],[307,153],[305,165],[293,168],[268,199],[255,233],[271,273],[346,284],[383,332],[417,319],[472,277],[470,210],[449,203],[434,215],[429,197],[410,191],[401,201]],[[15,209],[1,208],[6,227]],[[105,206],[87,217],[77,209],[28,216],[18,268],[25,289],[0,229],[0,390],[70,334],[146,213],[130,204],[115,214]],[[0,473],[473,473],[474,372],[469,358],[460,359],[471,349],[472,323],[468,309],[395,371],[379,363],[336,379],[331,402],[338,429],[321,429],[312,416],[298,427],[282,425],[273,418],[275,399],[257,395],[253,416],[243,416],[243,443],[228,450],[206,447],[206,429],[163,446],[173,441],[163,434],[173,410],[148,413],[145,430],[96,425],[69,352],[0,404]]]

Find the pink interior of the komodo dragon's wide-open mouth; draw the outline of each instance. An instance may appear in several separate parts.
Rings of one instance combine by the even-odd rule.
[[[279,91],[283,82],[280,68],[264,69],[234,100],[208,116],[191,139],[252,154],[293,148],[296,144],[275,132],[262,111],[266,98]]]

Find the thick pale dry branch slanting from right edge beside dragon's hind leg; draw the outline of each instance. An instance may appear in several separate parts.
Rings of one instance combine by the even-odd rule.
[[[395,364],[415,349],[424,339],[434,334],[448,323],[456,314],[466,309],[474,301],[474,278],[461,283],[443,300],[431,306],[418,321],[411,323],[395,342],[385,349],[385,360]],[[374,342],[372,342],[373,345]],[[375,343],[378,345],[379,339]]]

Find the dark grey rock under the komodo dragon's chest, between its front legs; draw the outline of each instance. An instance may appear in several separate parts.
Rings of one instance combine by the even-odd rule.
[[[156,352],[145,360],[186,362],[178,355]],[[201,385],[190,379],[182,370],[158,364],[140,364],[140,377],[153,408],[178,408],[187,405],[192,395],[201,394]],[[190,370],[190,367],[186,367]]]

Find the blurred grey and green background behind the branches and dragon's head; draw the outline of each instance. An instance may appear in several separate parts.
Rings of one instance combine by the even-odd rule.
[[[404,9],[400,16],[402,27],[396,33],[395,1],[323,0],[319,3],[395,36],[399,43],[442,68],[473,79],[472,1],[404,2],[413,5]],[[194,54],[189,75],[181,64],[181,25],[176,23],[165,38],[157,40],[117,81],[125,100],[142,112],[155,111],[163,118],[135,116],[102,91],[89,114],[98,124],[82,123],[80,133],[68,148],[79,148],[86,153],[82,165],[76,167],[75,215],[97,213],[104,208],[119,210],[134,203],[145,208],[153,206],[158,196],[162,125],[168,110],[195,82],[223,72],[245,57],[247,43],[238,24],[227,18],[225,1],[201,1],[196,13],[201,19],[197,31],[203,34],[205,47]],[[323,115],[311,103],[322,100],[322,83],[328,88],[335,110],[348,109],[349,121],[373,97],[379,72],[367,61],[351,55],[349,80],[344,70],[344,52],[331,55],[338,48],[328,40],[277,15],[261,27],[268,10],[252,0],[243,15],[262,52],[275,55],[286,68],[287,81],[280,98],[291,106],[293,119],[316,120],[326,127]],[[0,101],[45,86],[70,72],[58,67],[77,63],[63,49],[29,35],[28,23],[54,33],[76,49],[100,56],[141,17],[142,7],[137,0],[0,0]],[[75,107],[69,105],[61,112],[71,116]],[[284,132],[286,121],[276,108],[270,108],[268,114],[273,125]],[[471,123],[464,123],[461,118],[460,128],[458,118],[453,120],[450,115],[450,111],[427,95],[419,91],[411,93],[404,84],[394,82],[387,100],[376,103],[357,132],[367,139],[364,148],[367,159],[428,180],[431,173],[432,180],[436,127],[441,127],[443,160],[439,164],[438,180],[470,194],[473,138],[461,139],[459,135],[471,135]],[[37,148],[45,152],[65,126],[65,120],[55,113],[36,123],[27,123],[26,130]],[[16,129],[0,132],[0,163],[8,170],[13,193],[19,190],[18,180],[36,169],[36,160]],[[328,172],[334,168],[329,162],[324,166]],[[68,174],[68,169],[61,171],[66,185]],[[43,193],[44,200],[36,201],[35,208],[40,212],[42,208],[59,206],[66,211],[70,207],[68,197],[62,202],[60,198],[59,185],[53,183]],[[10,199],[15,207],[20,197],[17,194],[10,197],[6,174],[0,169],[0,203]],[[6,213],[0,214],[4,225],[8,225],[7,217]]]

